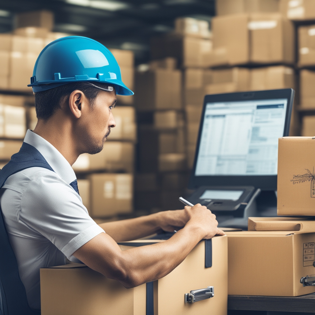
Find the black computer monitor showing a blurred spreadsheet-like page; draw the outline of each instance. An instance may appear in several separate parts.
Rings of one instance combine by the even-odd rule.
[[[293,89],[206,95],[188,188],[277,189],[278,138],[289,135]]]

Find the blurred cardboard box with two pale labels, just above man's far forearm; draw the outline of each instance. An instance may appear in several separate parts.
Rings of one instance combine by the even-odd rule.
[[[133,210],[132,174],[92,174],[90,198],[92,217],[109,217]]]

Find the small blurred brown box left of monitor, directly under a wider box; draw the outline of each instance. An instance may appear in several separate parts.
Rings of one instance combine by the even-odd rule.
[[[154,112],[153,124],[156,129],[184,127],[184,116],[182,112],[175,110]]]

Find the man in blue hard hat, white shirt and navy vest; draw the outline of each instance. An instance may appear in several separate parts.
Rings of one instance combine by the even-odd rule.
[[[38,123],[22,149],[48,166],[10,175],[0,205],[32,309],[40,310],[39,268],[65,264],[66,257],[131,288],[171,272],[201,239],[224,234],[200,204],[100,226],[89,217],[71,165],[82,153],[102,150],[115,127],[116,93],[133,94],[103,45],[75,36],[50,43],[36,61],[31,86]],[[163,243],[126,251],[116,243],[179,227]]]

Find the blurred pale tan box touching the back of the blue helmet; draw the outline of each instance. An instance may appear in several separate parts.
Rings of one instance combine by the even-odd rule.
[[[30,78],[33,74],[35,62],[38,54],[22,53],[13,51],[11,53],[9,89],[16,91],[32,91]]]

